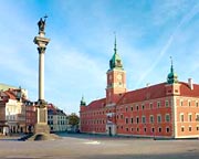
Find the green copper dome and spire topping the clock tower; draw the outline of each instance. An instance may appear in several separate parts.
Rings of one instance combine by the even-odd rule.
[[[116,49],[116,39],[115,39],[115,47],[114,47],[114,55],[109,61],[109,68],[119,68],[123,70],[123,63],[122,60],[119,57],[119,55],[117,54],[117,49]]]

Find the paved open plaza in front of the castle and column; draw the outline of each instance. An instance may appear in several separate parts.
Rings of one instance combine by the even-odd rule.
[[[198,159],[199,140],[62,135],[46,141],[0,140],[0,159]]]

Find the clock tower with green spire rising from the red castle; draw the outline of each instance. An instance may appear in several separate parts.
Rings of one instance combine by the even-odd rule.
[[[109,60],[109,70],[107,71],[106,86],[106,104],[107,106],[115,105],[126,92],[126,72],[123,68],[123,63],[117,54],[117,44],[115,38],[114,55]]]

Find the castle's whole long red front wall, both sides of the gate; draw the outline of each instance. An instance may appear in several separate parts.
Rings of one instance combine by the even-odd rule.
[[[80,115],[82,132],[108,134],[109,124],[116,126],[117,135],[172,137],[174,132],[171,97],[84,110]]]

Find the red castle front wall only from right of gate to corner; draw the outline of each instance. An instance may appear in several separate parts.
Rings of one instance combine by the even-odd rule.
[[[119,105],[116,108],[117,135],[171,137],[171,100],[168,97]]]

